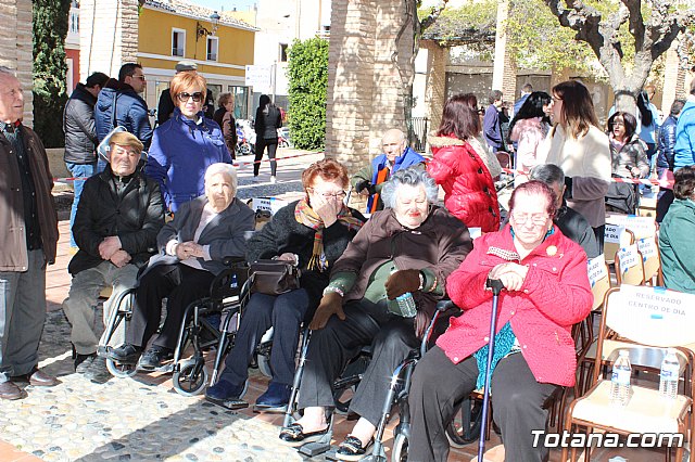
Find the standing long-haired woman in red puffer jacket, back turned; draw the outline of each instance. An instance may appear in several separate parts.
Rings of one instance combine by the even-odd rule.
[[[439,130],[428,137],[434,157],[427,172],[442,185],[444,205],[453,216],[468,228],[491,232],[500,229],[500,204],[489,165],[497,161],[488,161],[486,151],[476,139],[480,133],[477,104],[472,94],[446,101]]]

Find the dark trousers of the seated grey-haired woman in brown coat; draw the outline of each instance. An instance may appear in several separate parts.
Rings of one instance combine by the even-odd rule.
[[[386,304],[364,299],[345,304],[344,312],[344,321],[333,316],[312,333],[299,407],[333,408],[333,381],[363,346],[371,345],[371,361],[350,410],[377,425],[393,370],[418,346],[414,320],[389,313]]]

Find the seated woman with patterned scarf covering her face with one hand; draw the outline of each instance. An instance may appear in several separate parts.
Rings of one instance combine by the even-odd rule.
[[[365,221],[343,204],[349,178],[338,162],[325,159],[311,165],[302,174],[302,183],[305,197],[278,210],[247,244],[249,262],[275,258],[295,264],[301,270],[300,287],[279,295],[251,295],[225,370],[217,384],[205,392],[210,401],[225,405],[239,398],[254,349],[270,326],[273,378],[256,400],[256,408],[277,409],[289,401],[300,326],[314,315],[330,269]]]

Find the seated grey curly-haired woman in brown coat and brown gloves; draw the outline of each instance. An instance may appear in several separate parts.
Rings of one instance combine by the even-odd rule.
[[[309,325],[299,392],[303,416],[282,428],[286,444],[301,446],[329,431],[331,385],[362,347],[371,345],[371,362],[351,401],[361,419],[337,457],[357,460],[368,450],[393,370],[418,347],[444,295],[446,277],[472,247],[468,229],[432,205],[437,193],[437,184],[422,170],[394,174],[382,190],[387,209],[372,215],[336,262]],[[416,310],[399,297],[412,297]]]

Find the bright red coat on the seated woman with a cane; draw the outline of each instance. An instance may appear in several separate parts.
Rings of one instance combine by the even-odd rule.
[[[446,280],[446,293],[464,313],[452,318],[437,345],[454,363],[478,351],[490,336],[492,292],[485,290],[485,281],[492,268],[509,261],[498,256],[505,252],[490,252],[492,247],[515,252],[509,224],[478,239],[466,261]],[[529,272],[521,291],[500,295],[497,332],[511,324],[538,382],[572,386],[577,359],[571,329],[589,315],[593,303],[586,254],[555,227],[520,264]]]

